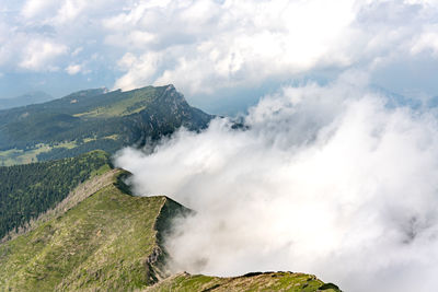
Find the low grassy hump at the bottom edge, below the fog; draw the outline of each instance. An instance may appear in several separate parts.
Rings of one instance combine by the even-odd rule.
[[[170,277],[145,291],[290,291],[290,292],[339,292],[332,284],[324,284],[316,277],[295,272],[253,272],[242,277],[219,278],[203,275],[181,273]]]

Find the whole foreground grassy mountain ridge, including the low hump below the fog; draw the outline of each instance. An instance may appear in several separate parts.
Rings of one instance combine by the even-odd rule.
[[[107,170],[84,182],[0,244],[2,291],[339,291],[303,273],[170,275],[162,238],[192,211],[163,196],[131,196],[126,175]]]

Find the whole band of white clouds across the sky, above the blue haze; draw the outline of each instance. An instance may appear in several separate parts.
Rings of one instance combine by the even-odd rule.
[[[2,7],[0,39],[8,42],[0,66],[7,72],[43,70],[22,66],[22,48],[28,39],[46,39],[83,48],[48,67],[83,63],[99,54],[91,70],[113,72],[113,85],[124,90],[174,83],[187,95],[214,95],[438,56],[434,0],[26,0]],[[116,66],[127,55],[138,62]],[[150,61],[151,56],[160,57]]]

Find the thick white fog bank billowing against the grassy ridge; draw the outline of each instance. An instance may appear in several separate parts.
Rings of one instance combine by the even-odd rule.
[[[393,104],[393,101],[391,102]],[[139,196],[196,213],[165,240],[174,271],[290,270],[345,291],[438,283],[438,127],[430,109],[388,106],[366,77],[283,87],[242,119],[125,149]]]

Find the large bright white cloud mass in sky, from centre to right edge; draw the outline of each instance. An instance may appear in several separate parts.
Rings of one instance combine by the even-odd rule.
[[[175,83],[194,94],[408,58],[435,46],[429,31],[436,33],[437,8],[433,1],[146,2],[104,23],[107,42],[128,36],[131,54],[165,52],[154,65],[155,84]],[[147,37],[130,36],[138,31]],[[140,66],[126,71],[141,77]]]

